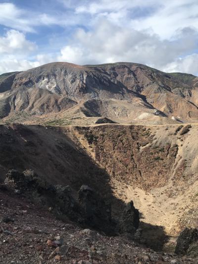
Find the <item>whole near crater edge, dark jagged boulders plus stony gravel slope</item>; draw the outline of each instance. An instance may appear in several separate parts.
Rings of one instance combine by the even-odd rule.
[[[46,192],[49,187],[51,191]],[[91,188],[82,186],[76,202],[68,189],[47,185],[33,171],[9,171],[0,185],[1,264],[198,263],[195,258],[157,253],[140,245],[144,241],[137,229],[139,212],[132,202],[125,206],[116,224],[109,207]],[[183,249],[187,252],[186,241],[183,234],[177,245],[179,254]]]

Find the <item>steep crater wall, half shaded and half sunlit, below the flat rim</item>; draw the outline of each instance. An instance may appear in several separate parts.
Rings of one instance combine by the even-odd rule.
[[[197,124],[1,125],[0,179],[31,168],[52,184],[88,184],[113,200],[114,214],[133,200],[144,223],[175,235],[198,224],[197,135]]]

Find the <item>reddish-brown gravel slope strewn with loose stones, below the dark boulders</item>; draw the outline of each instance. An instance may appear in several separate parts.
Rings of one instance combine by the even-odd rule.
[[[19,195],[0,191],[1,264],[166,264],[198,259],[160,254],[133,242],[126,234],[106,236],[56,219]]]

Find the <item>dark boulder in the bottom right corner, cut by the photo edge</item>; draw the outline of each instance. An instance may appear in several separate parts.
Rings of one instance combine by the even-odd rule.
[[[198,229],[185,228],[177,239],[175,253],[178,255],[198,256]]]

